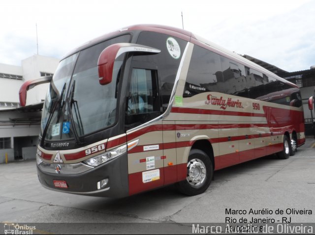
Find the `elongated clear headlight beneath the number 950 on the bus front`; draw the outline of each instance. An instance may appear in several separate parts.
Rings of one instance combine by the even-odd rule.
[[[98,166],[111,159],[114,159],[115,157],[119,157],[126,152],[127,152],[127,145],[123,145],[121,147],[118,147],[117,149],[102,153],[100,155],[96,155],[95,157],[91,157],[83,162],[90,166]]]

